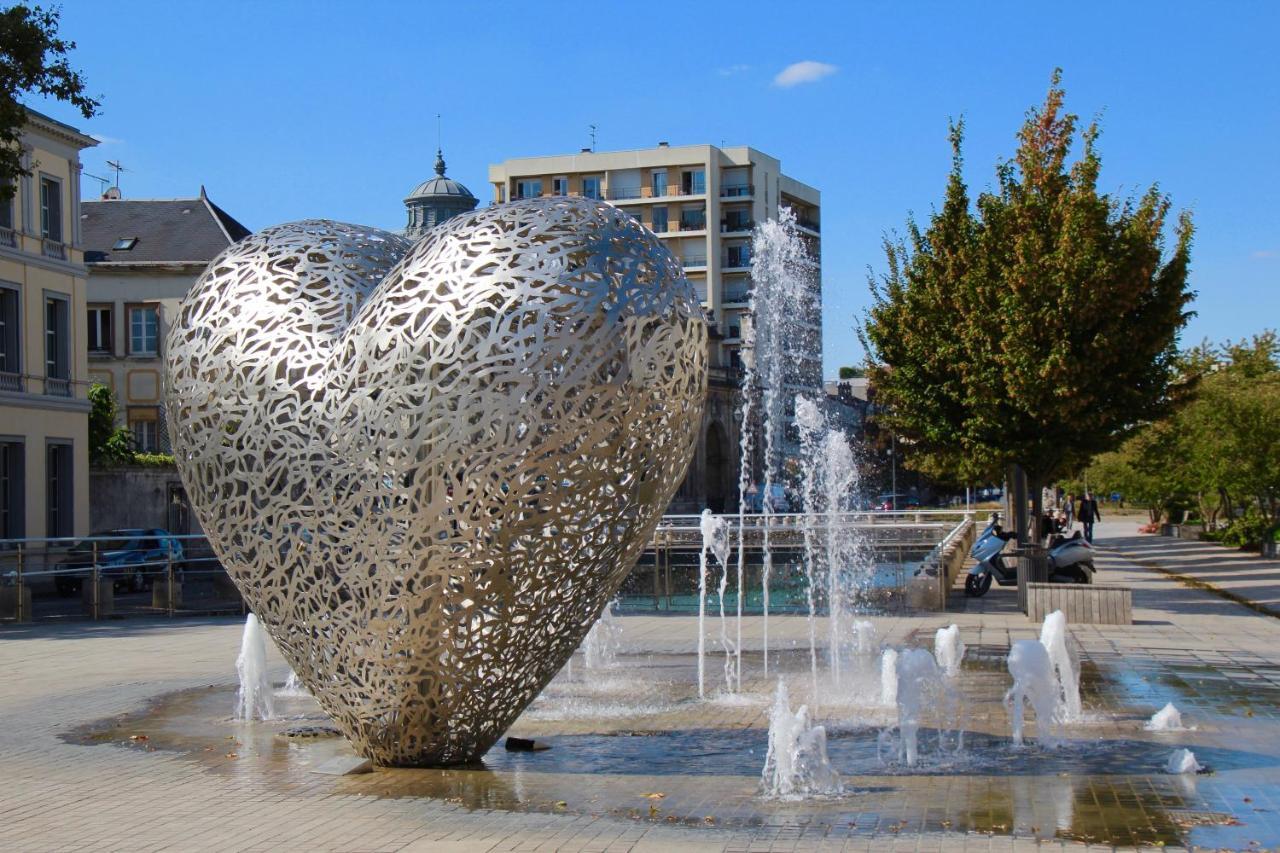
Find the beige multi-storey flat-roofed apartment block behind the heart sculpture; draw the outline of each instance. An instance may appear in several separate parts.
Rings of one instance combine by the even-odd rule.
[[[751,236],[758,222],[790,207],[809,251],[820,261],[817,190],[782,173],[782,164],[749,146],[671,146],[518,158],[489,167],[494,202],[584,196],[617,205],[653,231],[684,264],[710,325],[710,392],[698,453],[673,511],[737,505],[736,407],[750,353],[744,351],[751,295]],[[820,269],[815,277],[820,282]],[[820,393],[820,292],[805,318],[813,341],[788,384]]]

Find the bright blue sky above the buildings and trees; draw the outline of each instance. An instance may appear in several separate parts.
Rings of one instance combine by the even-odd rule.
[[[1280,4],[67,0],[63,32],[102,114],[32,106],[104,140],[86,172],[119,159],[133,199],[205,184],[255,229],[402,227],[436,113],[481,202],[489,163],[576,151],[593,123],[600,150],[769,152],[822,191],[828,373],[861,356],[882,236],[941,199],[948,117],[982,190],[1060,65],[1068,106],[1102,118],[1103,188],[1158,182],[1194,214],[1184,342],[1280,325]]]

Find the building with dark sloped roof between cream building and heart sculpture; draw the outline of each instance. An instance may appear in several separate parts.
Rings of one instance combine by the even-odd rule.
[[[168,324],[209,261],[250,231],[204,187],[193,199],[123,199],[111,188],[79,210],[88,377],[115,392],[137,450],[168,452],[160,382]]]

